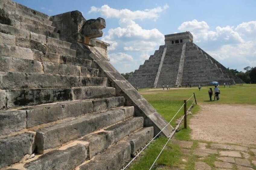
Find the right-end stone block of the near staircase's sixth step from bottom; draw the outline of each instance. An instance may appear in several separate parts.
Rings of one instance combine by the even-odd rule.
[[[79,86],[107,86],[107,78],[80,76]]]

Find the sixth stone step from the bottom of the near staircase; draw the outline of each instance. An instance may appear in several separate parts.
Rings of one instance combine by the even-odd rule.
[[[107,86],[107,78],[0,72],[0,89],[72,88],[83,86]]]

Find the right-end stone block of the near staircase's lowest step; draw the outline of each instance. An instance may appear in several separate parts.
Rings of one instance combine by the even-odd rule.
[[[143,145],[154,137],[154,128],[146,127],[142,130],[131,134],[125,140],[131,145],[131,154],[134,155]]]

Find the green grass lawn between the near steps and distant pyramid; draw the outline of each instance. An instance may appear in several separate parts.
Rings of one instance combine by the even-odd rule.
[[[213,86],[211,86],[213,88]],[[207,103],[207,104],[251,104],[255,105],[256,100],[256,84],[246,84],[246,85],[234,85],[232,87],[220,86],[219,101],[210,101],[208,96],[209,87],[202,87],[199,91],[197,87],[193,88],[173,88],[171,90],[162,90],[158,89],[139,89],[139,93],[142,94],[143,97],[148,100],[148,102],[160,113],[167,122],[169,122],[178,109],[182,106],[183,100],[188,99],[193,93],[196,95],[197,104]],[[214,97],[213,97],[214,98]],[[188,103],[187,108],[190,106],[194,98],[192,97]],[[196,114],[200,107],[199,105],[194,105],[191,112]],[[182,116],[184,113],[183,109],[178,113],[175,119]],[[178,140],[192,141],[190,139],[190,128],[189,128],[189,120],[192,117],[188,116],[188,128],[184,129],[183,125],[181,125],[179,131],[175,133],[174,138]],[[175,120],[171,122],[172,126],[175,126]],[[154,140],[143,152],[142,155],[139,156],[138,159],[134,161],[129,166],[129,169],[149,169],[152,163],[155,161],[155,158],[158,156],[162,147],[167,142],[168,138],[159,137]],[[197,147],[198,141],[193,141],[193,147]],[[178,145],[171,144],[169,142],[165,147],[165,150],[162,152],[161,156],[155,163],[153,169],[162,168],[162,169],[170,169],[171,167],[179,167],[182,162],[182,157],[184,155],[181,152],[181,148]],[[195,156],[191,156],[189,161],[186,163],[185,169],[194,169],[194,163],[198,158]],[[213,162],[215,160],[215,155],[210,155],[203,162],[206,162],[208,165],[213,166]],[[184,165],[184,162],[183,162]]]

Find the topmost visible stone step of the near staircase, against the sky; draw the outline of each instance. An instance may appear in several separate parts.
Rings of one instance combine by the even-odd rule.
[[[49,20],[50,17],[48,15],[28,8],[19,3],[13,2],[11,0],[2,0],[2,8],[5,11],[8,11],[8,14],[18,14],[30,19],[46,23],[48,25],[52,24],[52,22]]]

